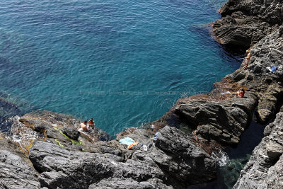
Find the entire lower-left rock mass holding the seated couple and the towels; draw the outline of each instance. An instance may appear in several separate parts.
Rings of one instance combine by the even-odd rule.
[[[0,185],[6,188],[19,185],[23,188],[185,188],[216,176],[216,160],[175,127],[163,127],[155,140],[151,130],[120,134],[139,142],[133,149],[127,149],[118,142],[119,136],[110,140],[98,128],[78,132],[79,122],[48,111],[29,113],[13,122],[5,137],[16,141],[19,148],[1,137],[4,148],[0,151],[0,166],[6,172],[1,175]],[[12,146],[13,150],[9,151]],[[22,173],[23,169],[26,170]],[[28,180],[33,183],[29,184]]]

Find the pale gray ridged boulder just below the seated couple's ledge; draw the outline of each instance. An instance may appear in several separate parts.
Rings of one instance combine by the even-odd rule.
[[[88,188],[91,183],[112,177],[115,164],[122,161],[112,154],[69,151],[41,141],[30,149],[29,158],[41,173],[41,185],[47,188]]]

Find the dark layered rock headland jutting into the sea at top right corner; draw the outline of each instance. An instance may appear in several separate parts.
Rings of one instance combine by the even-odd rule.
[[[279,1],[229,0],[219,10],[214,33],[221,44],[250,47],[282,25]]]

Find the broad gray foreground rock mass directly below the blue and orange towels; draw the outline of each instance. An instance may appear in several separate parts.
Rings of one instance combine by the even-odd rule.
[[[185,188],[216,177],[215,159],[177,128],[164,127],[155,143],[151,137],[140,138],[148,151],[123,149],[115,140],[93,143],[87,149],[91,153],[37,141],[29,159],[47,188],[122,188],[117,183],[124,181],[127,188]]]

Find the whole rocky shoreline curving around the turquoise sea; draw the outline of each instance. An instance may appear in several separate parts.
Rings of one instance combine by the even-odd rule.
[[[45,110],[15,118],[0,133],[0,188],[187,188],[214,181],[212,154],[235,147],[254,117],[267,123],[278,112],[234,188],[282,188],[283,4],[229,0],[220,13],[212,24],[216,39],[250,47],[247,69],[243,61],[211,92],[180,98],[148,127],[129,128],[116,139],[97,127],[78,132],[80,120]],[[266,68],[272,66],[279,69],[272,73]],[[240,88],[244,98],[234,96]],[[0,105],[2,118],[19,114],[2,98]],[[127,149],[119,143],[124,137],[139,144]]]

